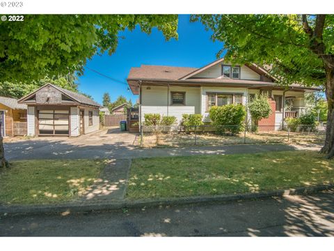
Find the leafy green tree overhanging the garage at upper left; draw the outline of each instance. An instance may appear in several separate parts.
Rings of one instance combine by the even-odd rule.
[[[82,75],[89,59],[113,54],[119,32],[137,25],[177,38],[177,15],[24,15],[24,22],[1,22],[0,82],[23,86],[47,76]],[[0,167],[2,160],[0,151]]]

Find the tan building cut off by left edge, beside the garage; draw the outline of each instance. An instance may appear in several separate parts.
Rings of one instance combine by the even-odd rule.
[[[2,136],[26,135],[26,105],[15,98],[0,97],[0,124]]]

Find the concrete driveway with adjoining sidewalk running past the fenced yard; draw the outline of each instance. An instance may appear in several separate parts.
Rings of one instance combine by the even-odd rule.
[[[81,137],[36,137],[6,139],[8,160],[29,159],[132,159],[199,154],[260,153],[266,151],[319,150],[319,145],[241,144],[223,146],[190,146],[141,149],[136,146],[139,135],[120,132],[119,128],[102,129]]]

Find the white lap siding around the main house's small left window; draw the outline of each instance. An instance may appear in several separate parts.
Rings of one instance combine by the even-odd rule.
[[[170,86],[170,93],[173,91],[186,93],[186,105],[171,105],[167,86],[147,87],[142,86],[141,91],[141,121],[144,121],[145,114],[158,113],[161,116],[175,116],[177,122],[180,123],[182,114],[200,114],[200,88]]]

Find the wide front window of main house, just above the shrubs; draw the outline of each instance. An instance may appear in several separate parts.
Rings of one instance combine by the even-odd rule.
[[[207,111],[214,105],[242,105],[242,98],[243,96],[240,93],[207,93]]]

